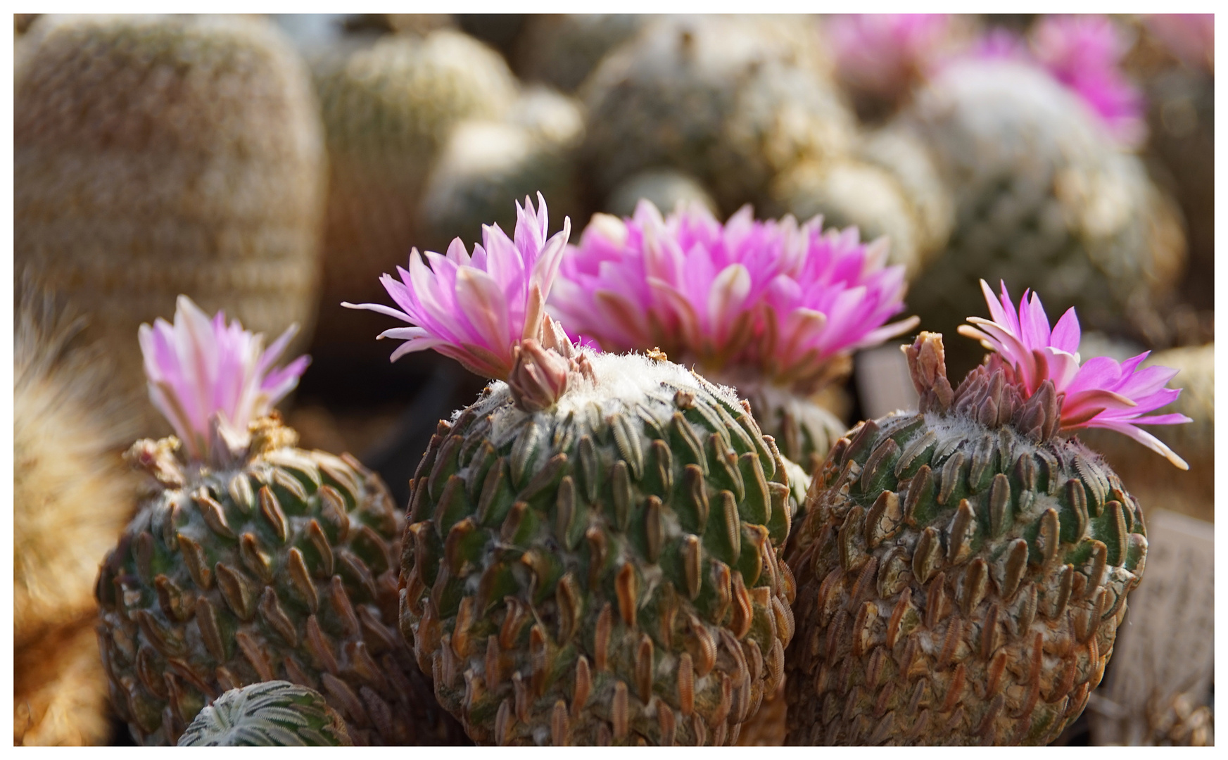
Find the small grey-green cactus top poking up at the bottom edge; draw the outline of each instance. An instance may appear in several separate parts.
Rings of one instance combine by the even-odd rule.
[[[318,691],[289,681],[232,689],[206,705],[179,746],[350,746],[345,721]]]

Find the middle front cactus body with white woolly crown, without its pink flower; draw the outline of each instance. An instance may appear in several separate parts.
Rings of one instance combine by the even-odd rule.
[[[736,397],[593,355],[537,413],[495,383],[413,484],[402,632],[489,744],[732,744],[792,635],[780,456]]]

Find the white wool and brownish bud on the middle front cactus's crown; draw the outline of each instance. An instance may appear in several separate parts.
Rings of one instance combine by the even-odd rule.
[[[650,359],[643,354],[602,354],[589,349],[577,349],[588,357],[593,377],[581,377],[572,373],[567,392],[559,399],[555,408],[534,413],[550,417],[566,417],[570,413],[582,413],[588,403],[596,403],[603,414],[616,414],[624,409],[634,409],[648,394],[661,395],[663,392],[673,397],[678,389],[711,393],[720,397],[736,409],[740,406],[738,392],[727,386],[717,386],[696,377],[690,370],[672,361]],[[507,437],[515,436],[521,424],[529,415],[517,409],[511,400],[507,383],[495,381],[489,386],[489,394],[474,404],[479,415],[494,415],[491,443],[500,446]],[[452,414],[456,421],[463,410]]]

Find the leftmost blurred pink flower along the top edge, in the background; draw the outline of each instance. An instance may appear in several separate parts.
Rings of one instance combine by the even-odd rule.
[[[952,42],[946,14],[850,14],[825,25],[840,79],[896,97]]]

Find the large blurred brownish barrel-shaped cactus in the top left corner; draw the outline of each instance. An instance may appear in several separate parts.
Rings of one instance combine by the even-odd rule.
[[[44,17],[14,104],[18,265],[71,296],[129,389],[178,293],[314,319],[323,145],[309,80],[252,18]]]

